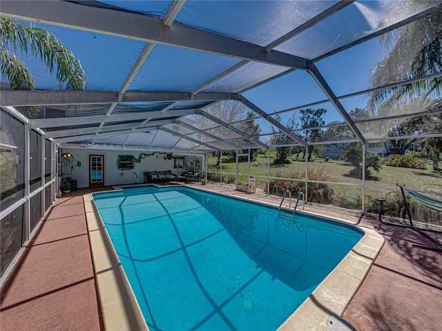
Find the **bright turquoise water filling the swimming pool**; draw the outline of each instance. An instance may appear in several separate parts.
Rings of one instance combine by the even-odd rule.
[[[276,330],[363,235],[191,188],[93,197],[150,330]]]

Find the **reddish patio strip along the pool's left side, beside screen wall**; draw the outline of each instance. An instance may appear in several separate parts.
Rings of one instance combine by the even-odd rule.
[[[2,331],[100,330],[85,193],[55,203],[3,285]]]

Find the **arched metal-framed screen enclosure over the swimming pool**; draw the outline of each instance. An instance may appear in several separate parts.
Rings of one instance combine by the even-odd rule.
[[[442,1],[1,1],[0,14],[2,275],[66,178],[188,170],[359,212],[381,198],[398,219],[396,183],[442,199]],[[40,52],[46,32],[77,62]]]

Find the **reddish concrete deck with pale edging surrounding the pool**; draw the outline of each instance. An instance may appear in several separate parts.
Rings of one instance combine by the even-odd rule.
[[[197,184],[191,186],[202,187]],[[254,197],[263,202],[279,204],[278,200],[258,194],[212,188],[209,185],[204,188],[238,195],[245,199]],[[28,252],[23,254],[13,276],[3,285],[1,330],[142,330],[144,328],[143,321],[140,322],[135,317],[137,307],[124,301],[124,296],[120,297],[121,292],[131,294],[130,288],[124,285],[124,277],[109,276],[113,267],[106,263],[112,262],[112,255],[99,256],[98,261],[102,264],[99,267],[95,265],[95,274],[92,272],[93,264],[90,256],[94,254],[95,249],[93,237],[100,235],[98,223],[95,227],[91,223],[90,228],[86,230],[86,214],[95,212],[90,210],[87,203],[83,204],[83,195],[90,192],[93,190],[79,189],[71,195],[62,197],[41,224],[37,235],[26,248]],[[87,197],[85,201],[88,201]],[[328,291],[316,294],[315,291],[306,308],[298,309],[301,312],[300,316],[292,317],[290,322],[282,325],[282,330],[328,330],[324,317],[332,314],[338,316],[343,314],[343,319],[360,331],[436,330],[442,325],[440,314],[442,254],[412,247],[413,243],[434,247],[430,241],[413,230],[383,225],[367,217],[318,210],[309,206],[306,206],[306,210],[358,223],[373,234],[374,232],[381,234],[385,244],[377,257],[376,254],[372,254],[371,249],[366,252],[365,248],[362,248],[363,250],[355,248],[349,253],[354,255],[353,258],[356,260],[365,260],[363,263],[365,265],[368,263],[367,260],[376,257],[372,268],[367,270],[361,287],[356,285],[356,290],[347,290],[347,284],[353,283],[357,278],[353,275],[355,268],[359,268],[356,267],[357,264],[342,262],[338,266],[342,268],[343,274],[334,281],[330,280],[332,285],[327,288],[343,288],[343,292],[348,292],[346,295],[350,299],[353,297],[353,292],[356,292],[349,305],[345,300],[342,300],[342,304],[336,302],[341,302],[340,294]],[[376,234],[373,240],[378,245],[379,239],[376,239]],[[439,236],[439,240],[442,239],[441,234],[434,235]],[[106,244],[103,246],[106,247]],[[369,248],[371,244],[366,246]],[[115,294],[110,288],[102,287],[108,299],[111,299],[111,303],[106,303],[97,296],[97,292],[100,291],[100,278],[106,277],[111,279],[111,282],[117,283],[119,289]],[[112,313],[118,301],[124,303],[123,312],[126,316],[124,319],[119,319]],[[331,308],[325,308],[327,302],[332,304]],[[314,306],[323,310],[325,314],[324,317],[320,317],[319,322],[309,324],[309,315],[312,314],[311,309]],[[104,322],[107,317],[102,319],[106,314],[109,314],[111,319],[117,319],[118,323],[123,320],[128,324],[112,326],[107,321]],[[299,324],[302,325],[302,329],[298,329],[294,323],[302,323]]]

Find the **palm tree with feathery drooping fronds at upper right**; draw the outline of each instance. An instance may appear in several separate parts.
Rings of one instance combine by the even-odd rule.
[[[411,6],[411,5],[410,5]],[[372,87],[424,77],[442,70],[442,10],[383,34],[381,45],[391,51],[372,69]],[[391,106],[412,98],[441,96],[442,79],[434,77],[375,92],[369,108]]]

